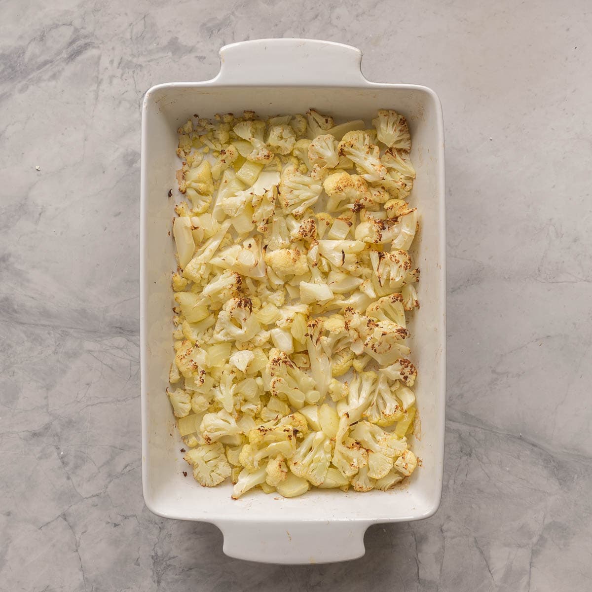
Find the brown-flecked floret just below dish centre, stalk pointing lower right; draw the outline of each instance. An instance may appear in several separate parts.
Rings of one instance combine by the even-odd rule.
[[[287,399],[289,404],[297,409],[304,407],[304,403],[314,404],[320,399],[314,379],[276,348],[269,352],[269,363],[263,373],[263,385],[266,391],[281,399]]]

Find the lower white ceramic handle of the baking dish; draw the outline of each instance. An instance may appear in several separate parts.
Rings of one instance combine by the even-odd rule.
[[[316,564],[361,557],[370,522],[216,522],[226,555],[275,564]]]

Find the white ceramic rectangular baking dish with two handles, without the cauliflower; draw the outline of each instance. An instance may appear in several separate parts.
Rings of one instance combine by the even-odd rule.
[[[445,413],[445,215],[444,148],[440,102],[424,86],[367,81],[362,54],[327,41],[268,39],[220,50],[220,73],[210,81],[154,86],[142,113],[140,336],[143,489],[159,516],[204,520],[224,533],[227,555],[298,564],[363,555],[363,535],[377,522],[403,522],[435,513],[442,491]],[[417,169],[412,201],[422,230],[414,259],[422,271],[421,308],[411,329],[419,369],[417,400],[422,436],[413,442],[422,466],[405,487],[369,493],[311,490],[285,499],[260,491],[237,501],[230,484],[200,487],[182,461],[165,395],[172,359],[169,236],[175,186],[176,129],[192,114],[252,109],[260,115],[302,113],[314,107],[337,121],[371,120],[378,108],[406,115]],[[182,471],[189,471],[188,477]]]

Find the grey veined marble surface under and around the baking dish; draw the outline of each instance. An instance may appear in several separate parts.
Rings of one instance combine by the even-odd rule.
[[[592,589],[592,14],[574,2],[0,4],[0,590]],[[226,558],[146,510],[140,102],[218,47],[343,41],[442,98],[442,506],[358,561]],[[38,167],[38,169],[37,169]]]

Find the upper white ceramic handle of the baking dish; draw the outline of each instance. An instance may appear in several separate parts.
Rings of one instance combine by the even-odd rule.
[[[316,39],[240,41],[220,50],[222,85],[363,86],[362,52]]]

